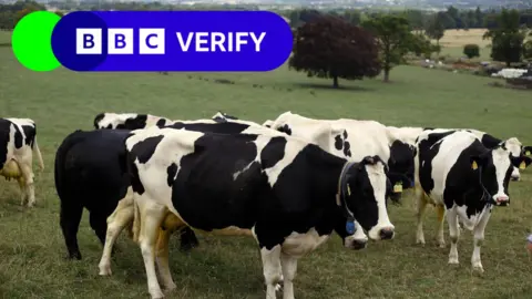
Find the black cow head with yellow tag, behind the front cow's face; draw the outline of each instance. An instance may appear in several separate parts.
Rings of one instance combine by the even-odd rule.
[[[395,141],[390,146],[390,158],[388,159],[388,178],[391,189],[389,197],[398,203],[402,189],[413,187],[413,156],[416,147],[401,141]]]

